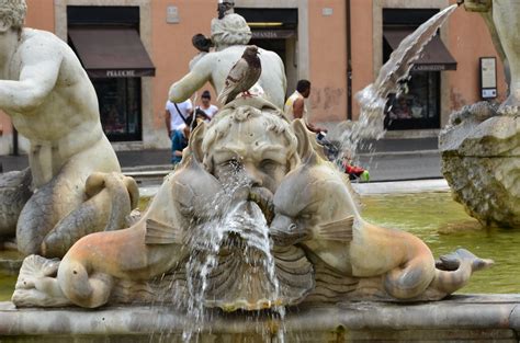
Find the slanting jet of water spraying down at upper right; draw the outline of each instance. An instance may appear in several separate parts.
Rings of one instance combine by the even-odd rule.
[[[358,122],[341,124],[343,132],[338,139],[340,152],[348,151],[352,158],[355,158],[363,139],[377,140],[385,135],[384,118],[388,95],[403,92],[402,88],[405,83],[403,81],[409,79],[414,62],[456,8],[457,4],[445,8],[403,39],[388,61],[381,68],[374,83],[355,94],[355,100],[361,107],[360,117]],[[372,147],[363,148],[371,150]],[[341,153],[338,159],[341,159]]]

